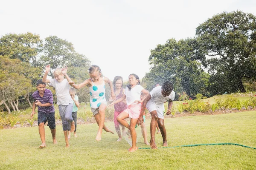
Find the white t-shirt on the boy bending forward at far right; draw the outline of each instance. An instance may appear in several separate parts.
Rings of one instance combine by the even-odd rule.
[[[149,100],[149,102],[154,102],[156,105],[160,105],[166,102],[168,99],[174,100],[175,98],[174,91],[172,91],[171,94],[166,97],[163,96],[161,91],[162,91],[162,86],[157,86],[153,88],[153,90],[151,90],[151,92],[149,93],[151,95],[151,99]]]

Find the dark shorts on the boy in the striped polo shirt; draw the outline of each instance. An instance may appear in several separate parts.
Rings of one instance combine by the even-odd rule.
[[[48,126],[50,129],[55,129],[55,112],[51,113],[44,113],[41,111],[38,111],[38,125],[40,123],[46,123],[48,121]]]

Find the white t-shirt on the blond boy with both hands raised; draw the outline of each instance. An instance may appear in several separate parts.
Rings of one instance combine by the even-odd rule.
[[[69,105],[73,103],[70,96],[70,84],[68,84],[67,79],[58,82],[56,79],[50,79],[51,85],[55,88],[57,95],[57,105]]]

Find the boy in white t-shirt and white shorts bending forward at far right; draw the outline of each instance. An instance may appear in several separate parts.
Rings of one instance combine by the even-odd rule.
[[[158,123],[162,137],[163,137],[163,146],[167,147],[167,139],[166,139],[166,128],[164,126],[164,105],[163,103],[168,100],[168,110],[166,112],[167,115],[171,114],[172,109],[172,101],[174,100],[175,92],[173,91],[172,82],[166,81],[163,83],[163,86],[157,86],[153,88],[153,90],[147,94],[147,96],[141,101],[137,101],[142,103],[143,106],[140,112],[140,118],[138,119],[137,124],[140,124],[143,121],[143,112],[145,107],[151,113],[152,119],[150,123],[150,146],[152,149],[157,149],[155,144],[155,130],[156,124]]]

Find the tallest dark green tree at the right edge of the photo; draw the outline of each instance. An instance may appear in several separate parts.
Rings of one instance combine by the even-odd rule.
[[[256,79],[256,17],[223,12],[200,24],[196,35],[211,94],[245,92],[243,79]]]

